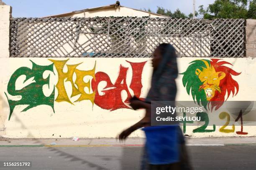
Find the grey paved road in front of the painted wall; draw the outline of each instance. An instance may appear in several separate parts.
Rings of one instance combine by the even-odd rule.
[[[28,170],[137,170],[141,149],[118,146],[0,147],[0,160],[31,161],[32,168]],[[256,169],[256,145],[188,146],[188,149],[195,170]]]

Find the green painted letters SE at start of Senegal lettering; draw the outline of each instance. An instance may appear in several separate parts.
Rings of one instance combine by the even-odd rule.
[[[31,61],[31,60],[30,60]],[[51,93],[49,97],[46,97],[43,92],[43,85],[48,85],[49,87],[49,81],[50,77],[48,76],[46,79],[43,78],[43,73],[46,70],[53,72],[53,66],[51,65],[37,65],[36,63],[32,62],[32,69],[28,67],[20,67],[18,68],[13,75],[11,75],[10,80],[8,82],[7,91],[10,95],[17,96],[20,95],[20,100],[10,100],[5,93],[9,107],[10,107],[10,115],[9,119],[13,113],[13,110],[16,105],[28,105],[25,109],[23,109],[21,112],[24,112],[28,109],[31,109],[33,107],[36,107],[38,105],[49,105],[54,111],[54,91]],[[21,90],[15,90],[15,82],[21,75],[26,75],[26,82],[31,77],[33,78],[33,82],[26,87],[23,87]],[[55,88],[55,87],[54,87]]]

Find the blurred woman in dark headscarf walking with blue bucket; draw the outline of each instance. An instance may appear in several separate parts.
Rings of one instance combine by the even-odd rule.
[[[191,170],[189,165],[183,162],[185,160],[183,157],[185,155],[187,158],[187,154],[184,148],[184,137],[179,125],[151,126],[151,101],[175,101],[177,93],[175,79],[178,75],[176,59],[177,55],[171,44],[160,44],[153,53],[151,89],[145,101],[136,97],[130,100],[130,106],[134,110],[144,108],[146,114],[139,122],[120,133],[119,140],[125,140],[134,130],[144,127],[146,144],[141,161],[141,170]],[[147,131],[153,131],[155,136],[150,138],[147,136]],[[166,148],[161,147],[163,150],[161,151],[160,146],[151,145],[150,143],[151,140],[161,140],[161,136],[166,135],[163,134],[164,132],[170,134],[170,140],[168,140],[168,145],[164,144]],[[168,149],[169,153],[166,153],[164,150]],[[160,154],[160,156],[156,157],[155,153]]]

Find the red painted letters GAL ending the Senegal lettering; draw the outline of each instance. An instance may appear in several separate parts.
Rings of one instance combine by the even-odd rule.
[[[129,62],[129,61],[127,61]],[[129,62],[132,67],[133,75],[131,80],[130,88],[133,90],[133,93],[136,97],[140,97],[142,83],[141,83],[141,75],[143,71],[143,67],[146,62]],[[127,106],[129,99],[131,98],[131,93],[128,90],[128,85],[126,83],[128,67],[123,67],[120,65],[120,70],[118,74],[118,78],[113,84],[110,80],[110,77],[105,72],[97,72],[95,74],[95,80],[92,80],[92,90],[95,91],[95,100],[94,103],[106,110],[117,110],[120,108],[130,108]],[[104,87],[102,92],[103,95],[100,95],[98,92],[98,85],[101,81],[107,82],[107,85]],[[127,93],[127,97],[124,102],[122,100],[121,92],[125,90]]]

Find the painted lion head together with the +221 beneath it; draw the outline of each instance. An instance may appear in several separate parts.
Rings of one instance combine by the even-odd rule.
[[[187,70],[180,73],[183,75],[182,84],[186,88],[188,95],[190,95],[191,92],[194,102],[196,101],[198,105],[202,105],[206,110],[218,110],[228,97],[230,97],[231,93],[233,97],[238,94],[239,85],[232,76],[238,76],[241,72],[236,72],[232,68],[225,66],[225,64],[232,66],[230,62],[220,59],[202,59],[194,60],[189,64]],[[205,122],[205,124],[194,129],[193,133],[215,132],[215,125],[212,125],[212,129],[206,129],[209,124],[209,116],[206,112],[198,112],[196,115],[201,117],[201,120]],[[186,117],[186,113],[184,113],[183,116]],[[232,125],[232,129],[226,129],[230,122],[230,115],[228,112],[220,112],[219,119],[227,119],[225,125],[220,127],[220,132],[235,132],[235,125]],[[235,122],[238,120],[241,120],[241,131],[237,131],[236,133],[239,135],[247,135],[248,133],[243,132],[242,110]],[[186,133],[186,124],[193,123],[193,121],[184,121],[182,123],[183,132]]]

